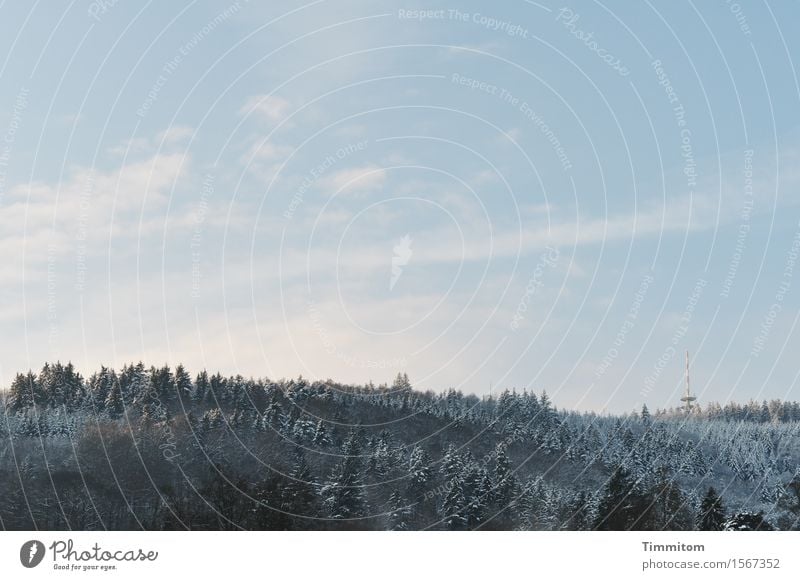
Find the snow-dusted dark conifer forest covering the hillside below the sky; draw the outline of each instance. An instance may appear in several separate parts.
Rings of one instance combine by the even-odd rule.
[[[622,416],[547,394],[129,365],[3,394],[3,529],[800,529],[800,406]]]

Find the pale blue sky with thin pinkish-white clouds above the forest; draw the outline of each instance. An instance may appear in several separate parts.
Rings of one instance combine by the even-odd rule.
[[[0,5],[0,383],[800,398],[793,2]]]

